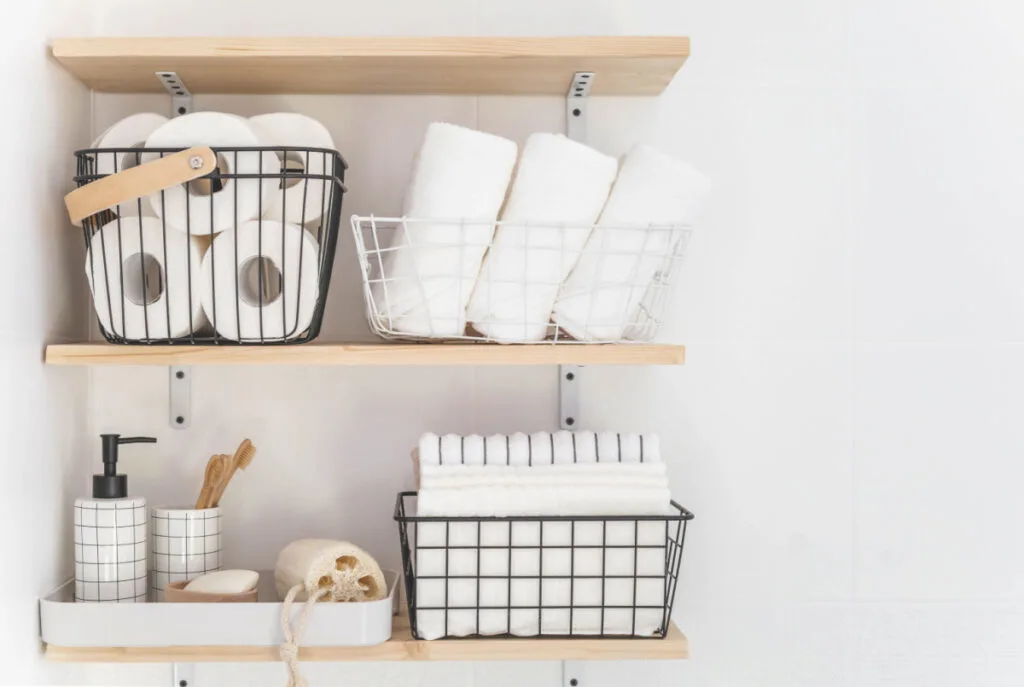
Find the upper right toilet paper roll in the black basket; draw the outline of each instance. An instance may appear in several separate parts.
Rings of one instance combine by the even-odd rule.
[[[289,145],[334,149],[334,139],[323,124],[305,115],[271,113],[249,118],[249,124],[263,145]],[[307,174],[333,171],[327,153],[312,151],[288,153],[283,167],[303,170]],[[281,156],[279,156],[281,161]],[[271,206],[264,206],[264,217],[285,219],[294,224],[306,224],[327,212],[330,188],[321,179],[281,180]]]

